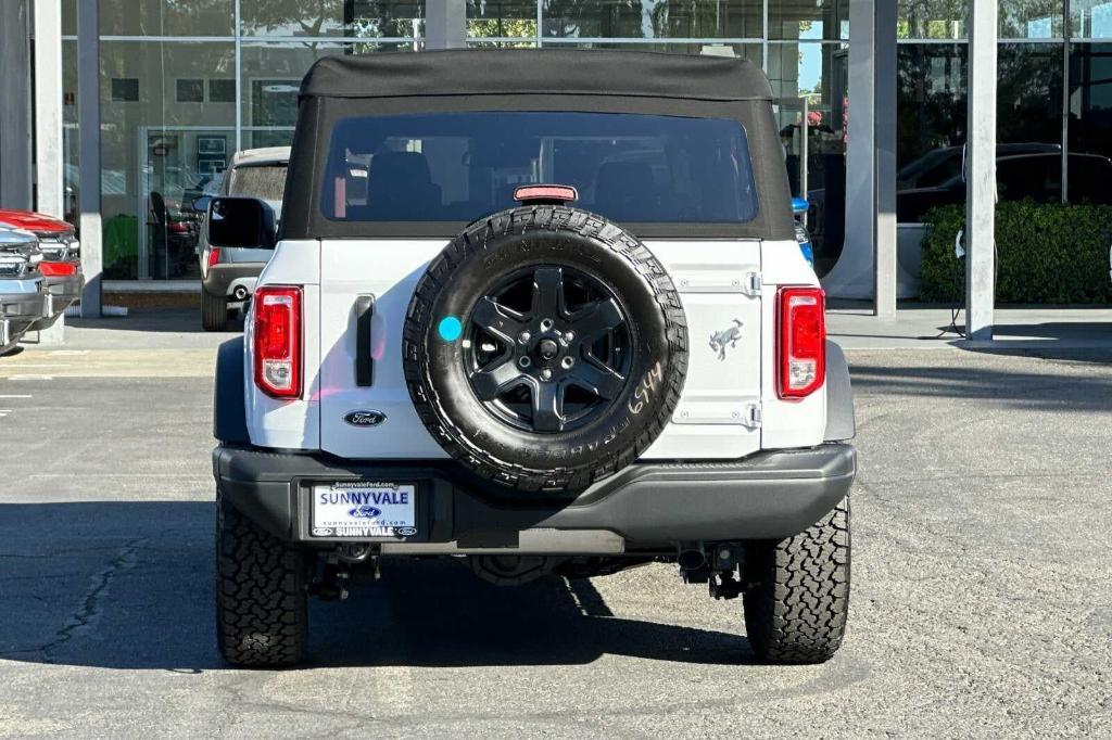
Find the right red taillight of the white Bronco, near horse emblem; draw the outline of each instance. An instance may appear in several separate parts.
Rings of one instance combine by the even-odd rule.
[[[822,288],[781,288],[776,301],[776,392],[803,398],[826,380],[825,297]]]

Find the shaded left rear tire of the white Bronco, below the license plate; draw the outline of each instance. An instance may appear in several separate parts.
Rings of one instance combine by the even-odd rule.
[[[216,629],[225,660],[277,668],[305,659],[306,556],[260,529],[217,493]]]

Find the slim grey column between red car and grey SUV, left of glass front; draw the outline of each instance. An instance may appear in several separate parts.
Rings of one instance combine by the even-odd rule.
[[[100,227],[100,12],[99,0],[77,8],[78,129],[81,140],[81,291],[82,318],[100,316],[103,252]]]

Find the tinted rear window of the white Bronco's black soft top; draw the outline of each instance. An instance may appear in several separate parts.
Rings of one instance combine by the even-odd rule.
[[[757,214],[736,120],[639,113],[468,112],[345,118],[321,211],[339,221],[473,221],[528,183],[574,186],[616,221],[744,223]]]

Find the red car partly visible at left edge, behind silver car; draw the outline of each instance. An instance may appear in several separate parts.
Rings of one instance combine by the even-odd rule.
[[[73,236],[73,226],[46,213],[4,209],[0,209],[0,224],[30,231],[39,238],[42,248],[39,270],[47,289],[47,314],[28,330],[46,329],[70,303],[81,298],[85,287],[81,244]]]

